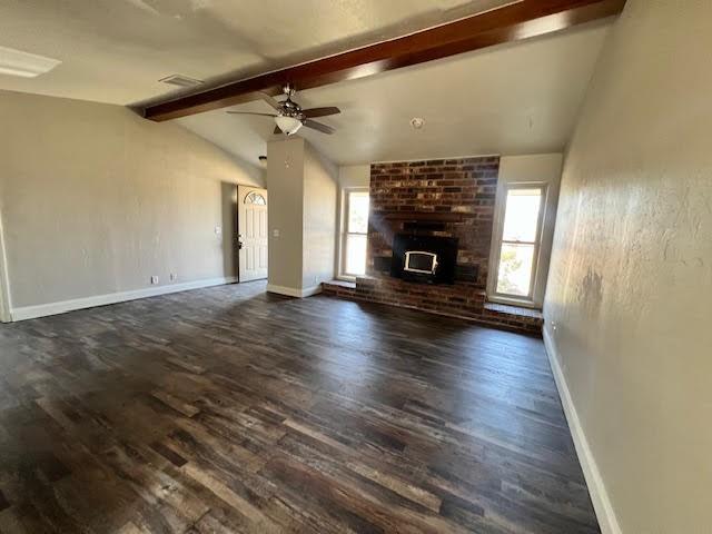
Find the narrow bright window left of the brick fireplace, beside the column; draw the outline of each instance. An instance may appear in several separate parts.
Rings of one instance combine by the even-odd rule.
[[[368,233],[368,190],[346,190],[343,206],[340,276],[347,278],[364,276]]]

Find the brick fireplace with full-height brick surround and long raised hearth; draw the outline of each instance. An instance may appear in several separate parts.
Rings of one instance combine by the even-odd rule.
[[[498,169],[496,156],[372,165],[366,276],[332,293],[541,333],[540,314],[486,303]],[[456,243],[454,283],[393,276],[394,241],[435,238]]]

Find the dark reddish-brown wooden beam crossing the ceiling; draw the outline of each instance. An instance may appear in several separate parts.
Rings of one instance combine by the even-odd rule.
[[[257,100],[260,92],[275,96],[286,83],[303,90],[373,76],[544,36],[619,14],[624,6],[625,0],[522,0],[389,41],[156,103],[147,107],[144,116],[155,121],[170,120]]]

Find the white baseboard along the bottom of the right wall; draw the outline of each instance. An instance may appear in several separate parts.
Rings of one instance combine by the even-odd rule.
[[[611,504],[609,493],[605,491],[605,484],[603,483],[603,478],[601,477],[601,472],[599,471],[596,461],[593,457],[591,447],[589,446],[589,441],[586,439],[586,435],[583,431],[583,427],[581,426],[581,421],[578,419],[576,407],[574,406],[573,399],[571,397],[571,392],[568,390],[566,378],[561,368],[561,365],[558,364],[558,354],[556,352],[556,346],[554,345],[554,340],[552,339],[546,325],[543,328],[543,333],[544,345],[546,346],[548,362],[552,366],[554,380],[556,380],[556,388],[558,389],[561,403],[564,406],[564,413],[566,414],[568,428],[571,429],[571,435],[576,447],[576,454],[578,455],[578,462],[581,463],[581,467],[583,469],[583,476],[586,478],[589,493],[591,494],[591,501],[593,502],[593,508],[595,510],[596,517],[599,518],[601,533],[621,534],[621,526],[619,525],[619,521],[615,517],[615,512],[613,511],[613,505]]]

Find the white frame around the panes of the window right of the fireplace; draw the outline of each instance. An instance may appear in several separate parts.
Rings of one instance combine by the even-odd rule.
[[[504,241],[504,218],[506,215],[507,197],[512,189],[540,189],[542,191],[538,218],[536,221],[536,234],[534,241]],[[494,231],[492,240],[492,254],[490,256],[490,273],[487,275],[487,299],[494,303],[511,304],[530,308],[541,308],[544,300],[546,286],[546,275],[548,270],[548,256],[551,255],[551,241],[545,236],[545,225],[547,209],[551,209],[550,195],[552,194],[547,181],[511,181],[498,188],[495,207]],[[550,236],[551,237],[551,236]],[[525,296],[508,295],[497,291],[497,279],[500,275],[500,258],[504,244],[526,244],[534,245],[534,257],[532,258],[532,278],[530,290]]]

